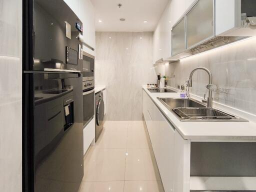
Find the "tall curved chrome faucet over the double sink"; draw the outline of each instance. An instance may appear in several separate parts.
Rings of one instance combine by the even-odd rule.
[[[205,70],[208,75],[209,75],[209,84],[206,85],[206,88],[209,90],[209,93],[208,93],[208,98],[207,98],[207,107],[208,108],[211,108],[212,107],[212,89],[216,86],[215,84],[212,84],[212,75],[211,75],[211,72],[209,71],[209,69],[205,68],[205,67],[197,67],[195,69],[193,69],[191,72],[190,72],[190,75],[189,75],[189,78],[187,80],[187,86],[188,86],[188,97],[189,97],[189,87],[192,87],[192,76],[193,76],[193,73],[196,71],[196,70]],[[203,100],[205,102],[205,100]]]

